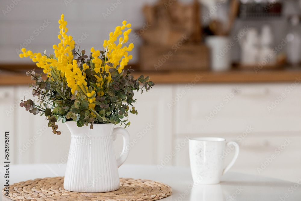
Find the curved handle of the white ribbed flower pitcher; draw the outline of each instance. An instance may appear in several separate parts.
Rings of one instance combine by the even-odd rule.
[[[113,129],[113,141],[116,140],[116,135],[121,134],[123,137],[123,148],[120,156],[116,159],[117,168],[119,168],[125,161],[129,155],[129,149],[126,149],[126,146],[130,143],[130,135],[129,132],[124,128],[114,128]]]

